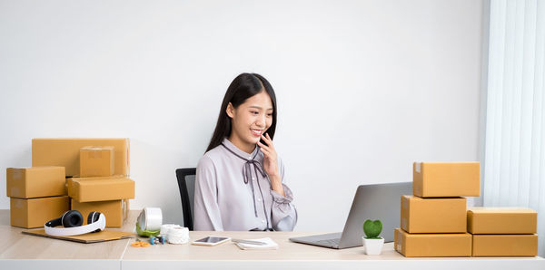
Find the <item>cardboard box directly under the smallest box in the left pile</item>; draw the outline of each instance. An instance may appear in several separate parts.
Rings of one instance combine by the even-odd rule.
[[[66,186],[78,202],[134,198],[134,181],[125,177],[68,178]]]

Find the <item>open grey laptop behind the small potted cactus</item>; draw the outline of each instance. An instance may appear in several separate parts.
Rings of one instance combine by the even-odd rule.
[[[400,227],[401,195],[411,194],[412,182],[359,186],[342,233],[292,237],[290,240],[337,249],[362,246],[363,222],[366,219],[380,219],[382,222],[381,236],[384,238],[384,242],[391,242],[393,241],[393,229]]]

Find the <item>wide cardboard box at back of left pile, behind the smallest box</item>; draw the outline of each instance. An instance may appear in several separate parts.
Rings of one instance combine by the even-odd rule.
[[[80,149],[114,147],[114,175],[129,176],[129,139],[33,139],[32,166],[63,166],[66,176],[79,176]]]

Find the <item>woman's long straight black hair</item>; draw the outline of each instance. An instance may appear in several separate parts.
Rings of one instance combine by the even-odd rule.
[[[210,144],[208,144],[206,151],[222,144],[223,139],[231,135],[231,118],[227,115],[227,105],[229,105],[229,102],[231,102],[233,108],[236,109],[248,98],[253,97],[263,90],[269,94],[272,101],[272,124],[266,133],[269,133],[271,139],[274,138],[274,130],[276,130],[276,95],[274,94],[271,83],[260,74],[242,73],[234,78],[233,82],[229,85],[229,88],[227,88],[227,92],[225,92],[222,108],[220,108],[220,115],[218,116],[218,122],[213,130],[212,139],[210,140]]]

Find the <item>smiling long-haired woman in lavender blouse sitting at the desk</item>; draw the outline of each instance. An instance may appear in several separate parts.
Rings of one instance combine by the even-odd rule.
[[[276,96],[263,76],[238,75],[197,165],[195,230],[292,231],[297,211],[272,144]]]

